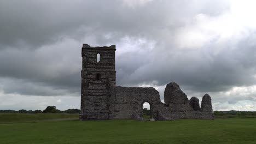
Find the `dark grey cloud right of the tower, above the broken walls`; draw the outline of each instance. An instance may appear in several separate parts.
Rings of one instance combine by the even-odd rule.
[[[225,49],[216,55],[212,51],[214,43],[212,45],[187,52],[159,52],[158,57],[152,57],[152,61],[133,69],[124,79],[133,84],[158,81],[160,86],[176,81],[188,89],[203,92],[255,84],[256,49],[248,38],[241,40],[236,47],[226,44]],[[132,62],[126,65],[133,65]],[[120,67],[126,65],[120,64]]]

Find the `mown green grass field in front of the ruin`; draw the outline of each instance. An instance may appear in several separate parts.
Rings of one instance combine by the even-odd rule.
[[[38,114],[19,114],[38,115]],[[43,114],[39,114],[43,115]],[[44,114],[45,115],[45,114]],[[54,116],[55,115],[55,116]],[[78,121],[45,115],[9,122],[0,115],[0,143],[256,143],[256,118]],[[11,114],[9,114],[11,116]],[[42,117],[42,116],[38,116]],[[64,118],[64,119],[60,119]],[[66,119],[70,118],[70,119]],[[26,119],[26,121],[24,120]],[[37,120],[35,120],[37,119]],[[51,119],[51,120],[49,120]],[[47,120],[47,121],[45,121]]]

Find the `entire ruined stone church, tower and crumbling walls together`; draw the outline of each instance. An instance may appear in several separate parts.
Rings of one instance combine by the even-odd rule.
[[[165,104],[153,87],[115,86],[115,46],[82,47],[82,86],[80,120],[142,118],[143,104],[150,104],[150,121],[177,118],[214,119],[210,95],[188,100],[175,82],[167,84]],[[100,57],[97,58],[97,55]],[[149,121],[149,120],[148,120]]]

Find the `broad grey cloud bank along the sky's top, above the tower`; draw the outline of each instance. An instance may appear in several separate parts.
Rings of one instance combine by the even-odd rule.
[[[55,43],[63,35],[79,39],[94,34],[103,40],[104,33],[113,33],[115,39],[120,35],[154,37],[160,29],[182,25],[179,17],[216,15],[226,8],[218,2],[186,2],[152,1],[130,8],[122,1],[1,1],[0,44],[1,48],[22,44],[38,47]]]

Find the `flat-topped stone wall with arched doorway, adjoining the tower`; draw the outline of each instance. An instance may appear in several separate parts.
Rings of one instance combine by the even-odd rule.
[[[143,104],[150,104],[151,117],[166,120],[164,104],[159,92],[153,87],[112,87],[110,88],[110,119],[142,120]]]

